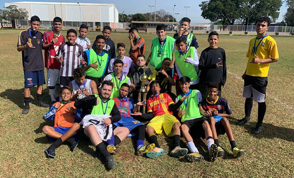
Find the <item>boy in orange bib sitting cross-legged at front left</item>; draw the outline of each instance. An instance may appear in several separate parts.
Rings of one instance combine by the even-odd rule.
[[[46,157],[55,157],[55,149],[63,142],[67,141],[71,144],[71,151],[77,146],[78,131],[80,130],[79,122],[82,119],[81,110],[76,109],[70,101],[73,96],[73,90],[68,87],[60,89],[60,97],[62,102],[56,102],[50,110],[44,115],[45,119],[53,120],[54,127],[44,126],[42,132],[47,135],[50,142],[53,142],[48,149],[45,150]]]

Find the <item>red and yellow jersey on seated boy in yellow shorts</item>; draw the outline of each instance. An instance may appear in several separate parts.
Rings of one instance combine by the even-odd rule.
[[[172,115],[169,106],[173,104],[172,98],[167,93],[161,93],[159,96],[151,96],[147,100],[147,112],[153,112],[154,117],[163,114]]]

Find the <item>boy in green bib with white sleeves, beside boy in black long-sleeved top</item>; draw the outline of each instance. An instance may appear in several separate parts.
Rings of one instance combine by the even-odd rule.
[[[199,58],[197,50],[194,46],[188,46],[186,39],[180,37],[176,39],[175,44],[177,51],[174,52],[173,58],[175,59],[175,67],[177,75],[181,78],[187,76],[191,79],[190,89],[197,89],[199,83]]]

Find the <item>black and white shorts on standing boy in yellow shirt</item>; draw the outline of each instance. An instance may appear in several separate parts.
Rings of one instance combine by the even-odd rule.
[[[257,103],[266,101],[268,77],[254,77],[245,75],[243,97],[251,98]]]

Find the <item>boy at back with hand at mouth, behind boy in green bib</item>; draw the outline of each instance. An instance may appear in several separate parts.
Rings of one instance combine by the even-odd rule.
[[[194,46],[197,49],[199,45],[195,35],[188,32],[188,29],[190,28],[190,22],[191,20],[188,17],[184,17],[181,20],[181,28],[178,30],[177,33],[173,35],[173,38],[177,39],[180,37],[184,37],[188,46]]]

